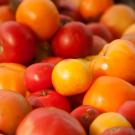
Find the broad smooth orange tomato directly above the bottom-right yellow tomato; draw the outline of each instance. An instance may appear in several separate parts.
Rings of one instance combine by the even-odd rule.
[[[83,104],[103,112],[115,112],[127,100],[135,100],[133,85],[117,77],[101,76],[86,92]]]

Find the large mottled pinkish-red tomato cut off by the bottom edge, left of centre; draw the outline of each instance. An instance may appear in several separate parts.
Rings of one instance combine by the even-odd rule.
[[[55,107],[31,111],[19,124],[16,135],[86,135],[73,116]]]

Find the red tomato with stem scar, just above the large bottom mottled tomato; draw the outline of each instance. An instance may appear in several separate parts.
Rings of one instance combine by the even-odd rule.
[[[27,101],[33,109],[53,106],[70,112],[68,99],[57,93],[55,90],[45,89],[32,93],[29,97],[27,97]]]

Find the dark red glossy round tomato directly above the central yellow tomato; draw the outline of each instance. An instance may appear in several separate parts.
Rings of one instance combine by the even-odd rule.
[[[90,54],[92,33],[81,22],[70,22],[61,27],[52,40],[52,50],[56,56],[78,58]]]

